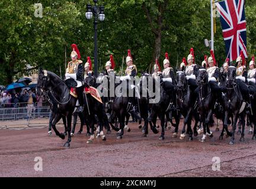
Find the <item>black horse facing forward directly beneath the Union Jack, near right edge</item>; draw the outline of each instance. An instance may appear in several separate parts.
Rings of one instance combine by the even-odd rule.
[[[244,130],[245,130],[245,102],[243,102],[242,93],[239,89],[238,82],[240,80],[236,80],[236,67],[229,66],[228,69],[228,79],[226,82],[226,95],[224,99],[224,109],[225,109],[225,120],[224,126],[228,126],[228,119],[229,115],[233,115],[233,124],[232,124],[232,137],[229,144],[233,145],[235,143],[235,130],[236,130],[236,123],[238,121],[238,117],[241,118],[242,124],[242,133],[240,141],[244,141]],[[243,106],[242,106],[243,105]]]

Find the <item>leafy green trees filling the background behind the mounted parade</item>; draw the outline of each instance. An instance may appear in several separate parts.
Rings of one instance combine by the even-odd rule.
[[[21,74],[37,71],[39,66],[60,74],[69,61],[71,44],[76,43],[82,60],[94,56],[94,24],[85,18],[86,5],[92,0],[42,0],[43,17],[34,17],[35,1],[0,1],[0,83],[11,83]],[[209,48],[209,0],[105,0],[105,20],[98,22],[99,70],[113,54],[120,71],[127,50],[139,71],[151,71],[155,57],[161,63],[169,53],[171,66],[180,64],[194,48],[200,64]],[[256,52],[256,5],[245,2],[247,48],[249,57]],[[225,60],[225,44],[219,18],[216,18],[215,54],[219,66]],[[27,67],[30,65],[30,67]],[[162,65],[161,65],[162,66]],[[123,63],[123,69],[126,64]]]

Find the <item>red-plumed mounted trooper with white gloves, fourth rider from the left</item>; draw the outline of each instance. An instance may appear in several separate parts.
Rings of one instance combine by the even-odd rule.
[[[130,52],[130,50],[128,50],[128,54],[127,54],[127,57],[126,57],[126,70],[125,70],[125,74],[126,76],[121,76],[120,77],[120,80],[121,81],[124,81],[126,80],[127,82],[127,92],[129,90],[132,90],[133,92],[133,96],[129,96],[128,100],[128,106],[127,106],[127,110],[129,111],[130,110],[130,107],[133,105],[135,106],[136,103],[135,103],[135,80],[134,80],[134,77],[137,76],[137,68],[135,66],[135,64],[133,64],[133,59],[132,59],[132,54]],[[133,79],[133,83],[131,84],[129,82],[129,80],[132,80]]]

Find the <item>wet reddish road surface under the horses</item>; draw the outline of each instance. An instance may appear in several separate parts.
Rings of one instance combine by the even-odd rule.
[[[245,131],[245,142],[228,145],[229,138],[219,141],[220,132],[201,143],[171,138],[172,129],[159,141],[159,133],[151,131],[141,137],[137,124],[129,123],[131,132],[116,139],[116,132],[107,141],[95,139],[87,144],[85,133],[72,138],[71,148],[47,128],[21,131],[0,129],[0,177],[255,177],[256,141]],[[181,126],[180,126],[181,128]],[[63,128],[59,128],[63,131]],[[231,128],[229,128],[231,129]],[[180,133],[180,131],[179,131]],[[34,158],[41,157],[43,171],[35,171]],[[213,171],[213,157],[220,159],[220,171]],[[216,170],[218,165],[213,166]]]

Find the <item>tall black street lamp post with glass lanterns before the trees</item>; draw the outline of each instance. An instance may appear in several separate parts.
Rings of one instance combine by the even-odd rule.
[[[85,12],[85,17],[91,19],[94,15],[94,74],[98,76],[98,47],[97,47],[97,23],[98,19],[104,21],[104,6],[97,5],[98,0],[94,0],[94,6],[87,5],[87,12]]]

